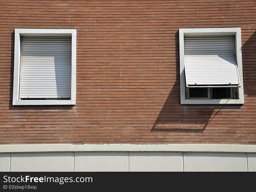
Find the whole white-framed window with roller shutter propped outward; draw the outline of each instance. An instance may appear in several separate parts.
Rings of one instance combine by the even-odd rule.
[[[243,104],[240,28],[179,29],[181,104]]]

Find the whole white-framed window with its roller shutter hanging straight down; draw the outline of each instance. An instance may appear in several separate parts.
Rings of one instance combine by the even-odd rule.
[[[14,49],[13,105],[75,105],[75,29],[15,29]]]

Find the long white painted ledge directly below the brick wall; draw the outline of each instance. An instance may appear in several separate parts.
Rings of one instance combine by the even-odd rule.
[[[79,151],[256,152],[256,145],[221,144],[28,144],[0,145],[0,153]]]

